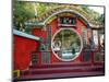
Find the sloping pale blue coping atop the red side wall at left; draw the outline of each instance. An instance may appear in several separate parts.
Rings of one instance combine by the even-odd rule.
[[[22,36],[22,37],[27,37],[27,38],[31,38],[31,39],[35,39],[35,40],[40,40],[40,38],[37,37],[37,36],[29,35],[29,34],[20,32],[20,31],[17,31],[17,30],[13,30],[13,34],[14,34],[14,35]]]

